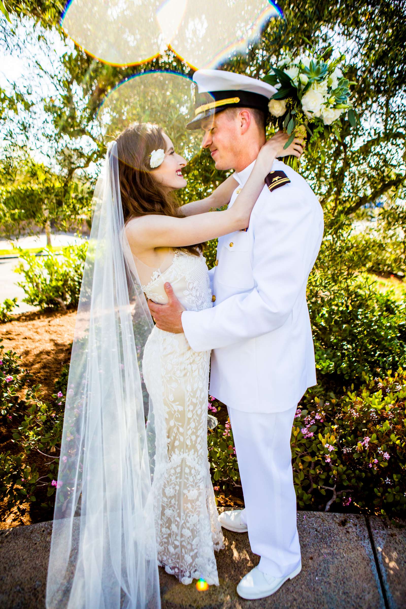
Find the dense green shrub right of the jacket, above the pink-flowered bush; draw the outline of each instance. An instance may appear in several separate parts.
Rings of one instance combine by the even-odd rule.
[[[322,292],[319,280],[307,298],[323,384],[338,390],[346,381],[359,384],[363,373],[406,365],[406,298],[398,303],[360,280]]]

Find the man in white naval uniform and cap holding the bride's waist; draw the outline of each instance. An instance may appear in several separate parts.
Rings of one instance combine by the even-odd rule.
[[[265,143],[275,89],[212,69],[195,72],[195,118],[216,169],[234,169],[229,206]],[[199,99],[200,96],[200,99]],[[166,284],[167,305],[149,300],[156,325],[184,332],[195,351],[212,350],[209,393],[227,404],[245,502],[219,519],[245,532],[261,558],[239,582],[245,599],[273,594],[301,570],[290,437],[296,405],[316,384],[306,284],[323,238],[323,211],[307,182],[275,161],[245,230],[219,238],[209,271],[212,308],[185,311]]]

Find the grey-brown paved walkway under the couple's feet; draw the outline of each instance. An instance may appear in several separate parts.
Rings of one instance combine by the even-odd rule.
[[[222,510],[220,508],[219,510]],[[223,529],[224,530],[224,529]],[[0,607],[43,609],[52,522],[0,530]],[[224,530],[220,586],[205,592],[159,569],[162,609],[403,609],[406,521],[298,512],[302,571],[265,599],[243,600],[236,586],[259,557],[247,533]],[[97,609],[95,607],[95,609]]]

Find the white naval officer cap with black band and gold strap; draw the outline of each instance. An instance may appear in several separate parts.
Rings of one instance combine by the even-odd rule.
[[[258,108],[268,112],[268,102],[276,88],[262,80],[225,70],[195,71],[191,85],[195,117],[186,128],[200,128],[200,121],[226,108]]]

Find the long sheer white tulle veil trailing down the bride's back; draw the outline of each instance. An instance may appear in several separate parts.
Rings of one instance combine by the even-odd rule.
[[[153,321],[125,236],[115,141],[107,149],[93,209],[69,368],[46,607],[156,609],[155,428],[141,367]]]

